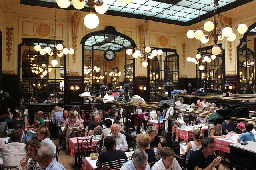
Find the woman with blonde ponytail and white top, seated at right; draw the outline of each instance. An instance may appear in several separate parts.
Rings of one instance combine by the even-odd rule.
[[[202,131],[200,129],[194,129],[192,131],[193,139],[194,141],[188,142],[188,147],[186,150],[186,153],[188,153],[191,150],[198,150],[202,148],[202,140],[204,138],[204,135],[202,134]]]

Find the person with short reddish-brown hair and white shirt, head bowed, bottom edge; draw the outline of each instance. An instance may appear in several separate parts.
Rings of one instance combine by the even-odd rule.
[[[174,151],[170,147],[162,148],[161,159],[154,164],[152,170],[182,170],[178,161],[174,158]]]

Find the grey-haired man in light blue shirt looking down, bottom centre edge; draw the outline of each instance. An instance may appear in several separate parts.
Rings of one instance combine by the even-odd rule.
[[[150,170],[148,154],[144,150],[134,152],[132,160],[126,162],[120,170]]]

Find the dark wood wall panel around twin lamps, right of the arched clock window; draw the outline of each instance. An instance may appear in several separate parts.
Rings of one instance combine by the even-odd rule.
[[[140,90],[139,87],[146,87],[146,90]],[[144,98],[145,101],[149,101],[149,87],[148,87],[148,77],[135,77],[133,94],[139,95]],[[132,97],[132,96],[131,96]]]

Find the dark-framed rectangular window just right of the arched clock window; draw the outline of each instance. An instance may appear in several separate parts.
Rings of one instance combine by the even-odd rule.
[[[152,47],[153,48],[153,47]],[[162,49],[161,56],[155,56],[148,59],[148,78],[150,89],[150,101],[159,101],[161,97],[157,92],[163,90],[168,77],[171,77],[172,83],[178,88],[179,79],[179,55],[175,49]]]

